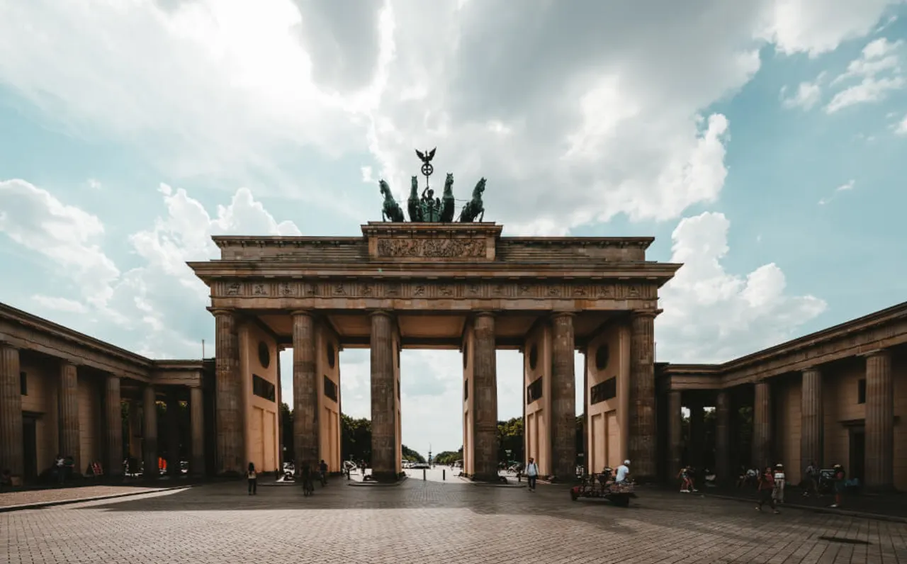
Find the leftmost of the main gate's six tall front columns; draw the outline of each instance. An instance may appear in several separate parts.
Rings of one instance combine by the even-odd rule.
[[[246,451],[243,444],[241,387],[239,385],[239,335],[236,315],[215,309],[215,409],[217,420],[219,474],[242,473]]]

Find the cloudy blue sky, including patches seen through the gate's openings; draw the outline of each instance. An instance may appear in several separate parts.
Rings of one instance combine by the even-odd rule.
[[[505,235],[654,236],[658,361],[724,362],[907,296],[905,38],[900,0],[0,0],[0,301],[210,356],[211,235],[358,235],[436,146]],[[457,355],[403,353],[415,450],[462,444]]]

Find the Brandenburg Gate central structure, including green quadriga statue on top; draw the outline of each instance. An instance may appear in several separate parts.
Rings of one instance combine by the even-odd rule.
[[[428,174],[432,156],[420,153]],[[420,196],[414,177],[405,222],[382,181],[385,221],[361,237],[215,237],[220,258],[190,263],[216,320],[220,473],[249,460],[277,468],[271,358],[291,346],[297,468],[340,470],[340,351],[371,352],[372,472],[391,481],[402,462],[400,351],[457,349],[463,472],[496,480],[495,351],[518,349],[526,455],[544,475],[572,476],[580,350],[587,465],[629,458],[638,479],[656,476],[654,320],[658,288],[680,265],[647,260],[652,238],[502,237],[501,225],[475,221],[484,185],[454,221],[453,176],[438,199],[427,187]]]

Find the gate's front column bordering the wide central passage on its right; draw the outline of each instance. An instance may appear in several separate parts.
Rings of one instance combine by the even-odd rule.
[[[498,377],[494,316],[473,318],[473,479],[498,479]]]

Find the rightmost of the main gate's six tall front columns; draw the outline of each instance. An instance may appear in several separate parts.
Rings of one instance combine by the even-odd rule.
[[[655,421],[655,316],[658,311],[633,311],[629,342],[629,459],[639,481],[658,472],[658,428]]]

